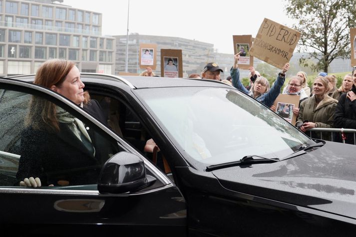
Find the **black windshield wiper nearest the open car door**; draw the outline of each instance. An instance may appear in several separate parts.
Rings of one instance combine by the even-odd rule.
[[[254,159],[254,157],[259,157],[261,159]],[[223,168],[229,168],[229,167],[245,165],[245,164],[273,163],[273,162],[278,162],[278,161],[280,161],[280,159],[278,159],[278,158],[268,158],[268,157],[263,157],[263,156],[258,156],[258,155],[250,155],[250,156],[244,156],[239,161],[233,161],[233,162],[228,162],[228,163],[223,163],[223,164],[218,164],[218,165],[207,166],[205,171],[219,170],[219,169],[223,169]]]

